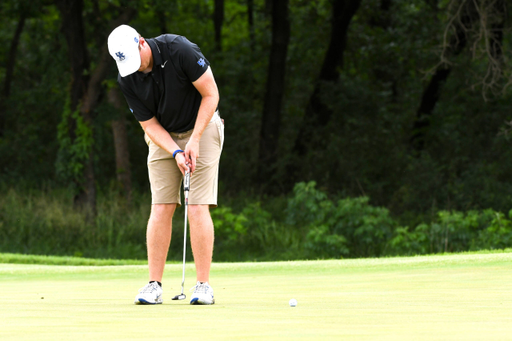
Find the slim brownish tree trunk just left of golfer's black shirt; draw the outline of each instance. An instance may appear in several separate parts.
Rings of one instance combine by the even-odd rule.
[[[126,103],[117,86],[110,88],[108,101],[117,111],[117,118],[112,120],[117,181],[121,191],[126,196],[126,200],[130,202],[132,194],[132,174],[130,167],[130,151],[128,149],[128,135],[126,133],[126,120],[123,114]]]

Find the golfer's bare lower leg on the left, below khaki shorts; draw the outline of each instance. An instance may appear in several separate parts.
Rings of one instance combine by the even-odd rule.
[[[171,244],[172,216],[176,204],[151,206],[146,241],[148,246],[149,280],[162,282],[162,276]]]

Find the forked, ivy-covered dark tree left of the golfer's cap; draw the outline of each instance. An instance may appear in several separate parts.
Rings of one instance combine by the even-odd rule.
[[[83,0],[55,0],[61,13],[62,30],[68,44],[68,55],[72,70],[69,108],[65,110],[64,124],[59,129],[61,154],[71,153],[74,172],[73,180],[78,189],[75,203],[96,213],[96,183],[94,176],[94,155],[92,122],[93,111],[98,104],[102,91],[101,83],[105,79],[111,57],[107,48],[107,32],[104,32],[99,56],[95,68],[90,70],[89,53],[85,39],[83,23]],[[121,23],[128,22],[135,15],[131,7],[125,7],[108,26],[110,32]],[[87,75],[87,74],[90,74]],[[66,129],[67,128],[67,129]],[[67,135],[67,136],[66,136]],[[61,162],[66,162],[61,156]],[[69,167],[68,166],[68,167]]]

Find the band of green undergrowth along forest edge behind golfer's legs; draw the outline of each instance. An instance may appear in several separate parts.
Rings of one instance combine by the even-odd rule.
[[[145,259],[149,195],[131,203],[102,193],[98,214],[73,207],[71,190],[6,189],[0,196],[0,252]],[[244,198],[244,201],[247,201]],[[512,210],[439,211],[400,226],[366,197],[333,200],[315,182],[298,183],[283,202],[248,201],[213,209],[215,261],[379,257],[512,247]],[[275,210],[282,206],[283,210]],[[183,248],[183,207],[173,222],[169,259]],[[192,253],[188,253],[192,260]]]

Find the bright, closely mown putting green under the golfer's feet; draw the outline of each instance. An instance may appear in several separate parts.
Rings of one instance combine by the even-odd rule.
[[[180,291],[180,264],[167,265],[159,306],[132,303],[145,265],[103,265],[0,264],[0,338],[512,339],[510,252],[214,263],[214,306],[170,300]],[[192,264],[186,276],[188,289]]]

